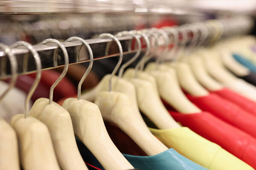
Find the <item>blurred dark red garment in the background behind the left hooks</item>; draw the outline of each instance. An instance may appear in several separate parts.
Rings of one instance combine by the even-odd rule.
[[[28,74],[30,77],[35,78],[36,73],[34,74]],[[52,86],[52,84],[60,77],[60,73],[52,70],[45,70],[42,71],[42,77],[41,77],[41,84],[44,84],[49,90]],[[49,90],[47,98],[49,98]],[[70,97],[75,95],[76,87],[72,84],[72,82],[67,78],[64,77],[61,82],[58,83],[58,85],[55,87],[53,91],[53,101],[58,101],[59,99],[62,99],[64,97]]]

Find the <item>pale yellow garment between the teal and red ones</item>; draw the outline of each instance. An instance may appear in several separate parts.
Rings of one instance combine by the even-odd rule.
[[[149,128],[167,147],[209,170],[253,170],[250,165],[199,136],[188,127],[166,130]]]

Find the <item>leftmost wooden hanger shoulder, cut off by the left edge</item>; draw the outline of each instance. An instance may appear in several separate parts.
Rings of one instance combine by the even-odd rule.
[[[0,118],[0,170],[20,170],[15,130]]]

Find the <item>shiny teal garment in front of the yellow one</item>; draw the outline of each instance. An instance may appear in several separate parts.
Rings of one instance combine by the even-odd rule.
[[[140,170],[207,170],[172,148],[154,156],[123,155],[134,168]]]

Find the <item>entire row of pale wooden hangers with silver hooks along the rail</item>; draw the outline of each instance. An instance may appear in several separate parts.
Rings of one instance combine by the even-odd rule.
[[[230,26],[237,21],[238,19],[231,20],[230,23],[225,24]],[[248,27],[250,26],[247,21],[239,20],[239,26],[234,30],[243,28],[244,32],[247,32]],[[159,129],[180,127],[166,110],[161,98],[181,113],[200,112],[201,110],[186,98],[182,89],[195,96],[204,96],[209,92],[199,82],[207,87],[209,85],[211,89],[221,88],[221,85],[207,73],[210,69],[212,77],[216,74],[216,79],[220,80],[224,76],[225,70],[221,65],[213,65],[211,62],[213,57],[207,56],[209,51],[214,53],[214,50],[198,47],[219,39],[220,30],[224,28],[226,27],[219,21],[212,20],[180,27],[122,31],[116,35],[101,34],[99,38],[110,37],[116,42],[120,53],[119,61],[111,74],[106,75],[95,88],[83,95],[81,95],[81,84],[93,66],[93,52],[85,40],[70,37],[66,42],[80,41],[86,46],[90,55],[90,64],[79,82],[78,98],[68,98],[62,106],[53,102],[52,96],[54,88],[68,70],[67,50],[58,40],[44,40],[41,44],[55,43],[59,46],[64,54],[65,66],[61,76],[50,89],[49,99],[36,100],[30,111],[29,100],[41,78],[40,57],[27,42],[19,41],[10,47],[1,44],[0,47],[9,57],[12,71],[10,86],[0,97],[1,99],[14,87],[17,79],[17,61],[11,48],[25,46],[29,49],[35,58],[37,75],[26,97],[25,114],[13,116],[10,125],[3,119],[0,121],[0,137],[1,141],[4,141],[1,142],[4,146],[0,146],[0,169],[19,170],[21,164],[25,170],[86,170],[87,167],[76,146],[75,136],[85,144],[106,170],[133,169],[134,167],[111,141],[103,120],[118,126],[149,156],[168,150],[150,133],[140,111]],[[187,47],[186,42],[190,39],[190,33],[193,36]],[[134,37],[137,52],[131,60],[120,67],[123,54],[122,45],[117,37],[124,35]],[[137,35],[146,42],[146,52],[135,68],[124,71],[142,51],[142,44]],[[160,37],[164,40],[163,48],[159,47]],[[248,43],[252,42],[251,39],[244,39]],[[154,42],[153,48],[151,48],[152,42]],[[170,48],[171,43],[172,48]],[[130,50],[131,44],[129,44]],[[111,43],[107,45],[106,55],[110,46]],[[198,49],[195,50],[196,48]],[[201,57],[193,54],[201,54]],[[145,62],[155,55],[158,56],[156,62],[149,63],[144,69]],[[191,57],[187,57],[188,55]],[[168,62],[166,56],[178,57]],[[54,56],[54,61],[57,62],[57,55]],[[204,64],[209,65],[207,71]],[[116,76],[119,67],[119,74]]]

